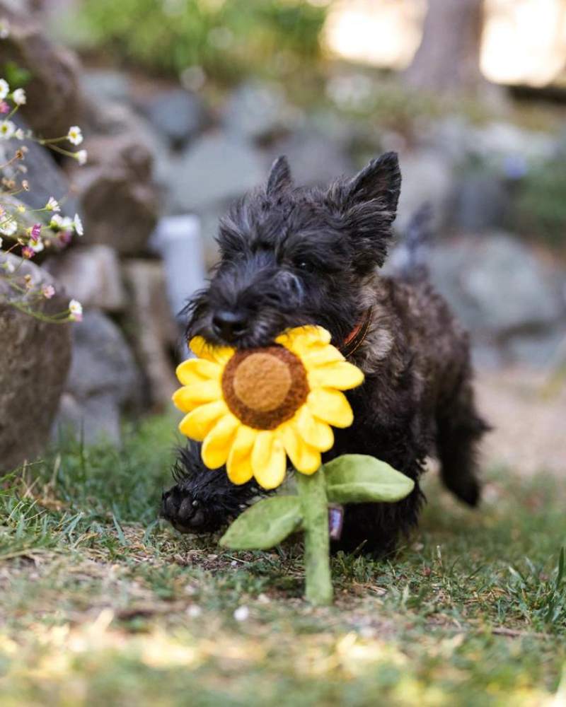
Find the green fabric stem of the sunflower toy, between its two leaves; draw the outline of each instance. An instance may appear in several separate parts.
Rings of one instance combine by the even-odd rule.
[[[311,476],[297,473],[296,482],[304,518],[306,598],[312,604],[325,607],[332,604],[333,590],[323,467]]]

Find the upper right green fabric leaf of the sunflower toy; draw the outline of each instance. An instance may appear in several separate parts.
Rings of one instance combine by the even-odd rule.
[[[405,498],[415,482],[386,462],[364,454],[345,454],[324,465],[332,503],[391,503]]]

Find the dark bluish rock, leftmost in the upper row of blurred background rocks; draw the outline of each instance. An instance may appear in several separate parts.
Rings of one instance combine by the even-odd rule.
[[[183,88],[158,93],[141,110],[154,131],[175,148],[194,140],[209,122],[202,100]]]

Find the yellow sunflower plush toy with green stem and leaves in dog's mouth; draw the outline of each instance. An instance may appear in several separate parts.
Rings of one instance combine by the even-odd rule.
[[[287,458],[300,472],[298,495],[255,503],[236,518],[221,544],[268,549],[302,530],[306,596],[329,604],[328,504],[398,501],[413,486],[374,457],[342,455],[321,464],[321,452],[334,444],[332,427],[354,421],[343,391],[361,385],[362,371],[345,361],[321,327],[290,329],[262,349],[213,347],[200,337],[190,348],[197,358],[178,366],[183,387],[173,402],[186,413],[180,431],[202,442],[204,464],[226,464],[233,484],[254,477],[264,489],[282,484]]]

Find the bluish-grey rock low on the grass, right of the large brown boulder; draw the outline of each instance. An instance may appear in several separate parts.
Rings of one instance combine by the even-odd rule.
[[[144,381],[120,329],[100,312],[73,327],[73,357],[57,425],[87,443],[120,441],[120,411],[141,402]]]

